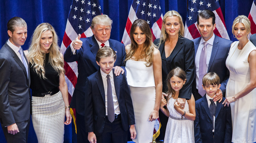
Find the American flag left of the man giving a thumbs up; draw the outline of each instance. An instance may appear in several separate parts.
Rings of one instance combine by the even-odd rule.
[[[67,47],[73,40],[75,40],[78,34],[81,34],[81,38],[93,36],[90,26],[92,19],[99,14],[102,14],[102,12],[98,0],[73,0],[69,11],[63,41],[60,47],[60,52],[62,54],[64,54]],[[77,62],[65,62],[64,69],[66,71],[65,80],[68,85],[70,103],[77,82]],[[70,111],[75,123],[75,111],[73,112],[73,109]]]

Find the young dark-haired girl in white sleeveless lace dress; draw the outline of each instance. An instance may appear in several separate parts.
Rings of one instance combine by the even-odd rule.
[[[186,82],[186,74],[181,68],[175,68],[167,75],[167,100],[162,97],[160,110],[169,117],[164,143],[194,143],[194,120],[196,118],[195,99],[191,96],[185,107],[176,102],[179,92]],[[167,106],[167,109],[163,108]]]

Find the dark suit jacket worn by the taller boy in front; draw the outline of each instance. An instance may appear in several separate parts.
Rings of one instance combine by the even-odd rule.
[[[114,71],[113,71],[114,74]],[[125,131],[129,125],[135,124],[133,104],[125,74],[115,76],[114,84],[120,109],[122,127]],[[105,91],[100,70],[90,75],[86,80],[85,92],[85,130],[102,134],[105,126],[106,107]]]

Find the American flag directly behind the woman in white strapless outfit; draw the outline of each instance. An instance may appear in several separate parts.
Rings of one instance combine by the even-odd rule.
[[[130,30],[137,19],[143,19],[149,24],[153,41],[160,38],[163,15],[159,0],[133,0],[122,38],[125,46],[131,43]]]

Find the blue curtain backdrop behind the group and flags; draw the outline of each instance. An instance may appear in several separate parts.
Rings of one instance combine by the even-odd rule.
[[[197,2],[199,0],[196,0]],[[185,24],[188,0],[160,0],[163,15],[169,10],[178,11]],[[232,23],[238,15],[248,16],[253,0],[219,0],[225,19],[230,40],[235,41],[232,34]],[[132,0],[99,0],[103,14],[113,20],[111,39],[122,40]],[[23,18],[28,25],[28,37],[22,46],[29,47],[33,30],[38,24],[48,22],[53,25],[61,44],[72,0],[0,0],[0,48],[8,40],[7,22],[14,16]],[[0,75],[1,76],[1,75]],[[1,87],[0,87],[1,88]],[[74,139],[73,139],[74,141]],[[0,142],[5,143],[5,137],[0,129]],[[30,126],[29,142],[37,142]],[[72,142],[72,125],[65,125],[65,141]]]

